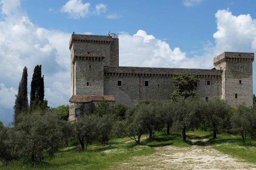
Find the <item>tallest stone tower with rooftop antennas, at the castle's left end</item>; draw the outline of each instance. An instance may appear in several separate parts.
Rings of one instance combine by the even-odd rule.
[[[70,49],[70,96],[103,95],[103,66],[119,66],[116,34],[72,34]]]

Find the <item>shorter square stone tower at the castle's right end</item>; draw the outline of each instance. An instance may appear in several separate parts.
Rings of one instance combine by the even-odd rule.
[[[231,107],[245,103],[253,105],[254,53],[223,52],[213,59],[222,71],[222,99]]]

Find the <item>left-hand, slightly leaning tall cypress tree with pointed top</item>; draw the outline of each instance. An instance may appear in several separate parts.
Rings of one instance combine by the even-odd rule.
[[[18,94],[15,95],[16,100],[14,104],[14,125],[17,124],[17,117],[21,112],[28,111],[28,99],[27,99],[27,67],[23,69],[21,81],[19,82]]]

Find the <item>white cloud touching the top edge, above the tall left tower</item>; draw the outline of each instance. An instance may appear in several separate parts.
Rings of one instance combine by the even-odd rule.
[[[69,15],[69,18],[85,18],[89,14],[90,3],[82,3],[82,0],[69,0],[62,6],[61,12]]]

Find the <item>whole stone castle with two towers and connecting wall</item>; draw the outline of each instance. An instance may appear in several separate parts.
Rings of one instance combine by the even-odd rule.
[[[253,104],[254,53],[223,52],[213,69],[176,69],[119,66],[116,34],[72,34],[70,49],[69,120],[89,114],[102,96],[112,103],[134,108],[143,100],[167,102],[174,90],[174,73],[195,75],[200,97],[220,98],[231,107]]]

